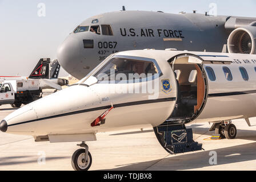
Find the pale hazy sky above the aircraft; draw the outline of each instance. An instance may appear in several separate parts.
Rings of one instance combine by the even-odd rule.
[[[39,3],[45,5],[46,16],[38,16]],[[218,15],[256,17],[255,0],[0,0],[0,75],[27,76],[40,58],[55,59],[59,44],[90,16],[122,6],[126,10],[205,13],[210,3],[217,4]]]

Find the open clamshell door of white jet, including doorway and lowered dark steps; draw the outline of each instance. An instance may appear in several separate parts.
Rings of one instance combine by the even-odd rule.
[[[185,124],[194,121],[206,105],[209,85],[203,64],[231,64],[227,57],[222,58],[182,53],[168,60],[175,72],[177,100],[170,117],[154,131],[170,154],[202,150],[202,144],[194,142],[192,129],[186,129]]]

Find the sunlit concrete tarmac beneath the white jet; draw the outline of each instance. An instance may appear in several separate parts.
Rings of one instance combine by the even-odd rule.
[[[0,106],[0,119],[14,110]],[[208,131],[211,125],[188,125],[205,151],[178,155],[168,154],[150,128],[99,133],[97,141],[87,142],[93,156],[90,170],[256,170],[256,118],[251,127],[243,119],[233,123],[238,134],[231,140],[203,140],[214,134]],[[71,156],[78,148],[77,143],[36,143],[33,137],[0,132],[0,171],[73,170]],[[209,163],[211,152],[217,154],[217,164]]]

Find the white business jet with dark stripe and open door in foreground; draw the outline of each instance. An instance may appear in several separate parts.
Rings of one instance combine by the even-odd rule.
[[[87,170],[96,133],[151,125],[170,154],[202,150],[187,123],[211,122],[235,138],[231,119],[256,117],[256,56],[136,50],[110,55],[77,84],[7,115],[3,132],[36,142],[81,142],[72,166]]]

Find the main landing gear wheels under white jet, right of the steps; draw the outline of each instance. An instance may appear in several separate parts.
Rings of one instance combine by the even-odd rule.
[[[221,138],[234,139],[237,136],[237,128],[231,121],[222,121],[216,125],[215,134],[220,134]]]

